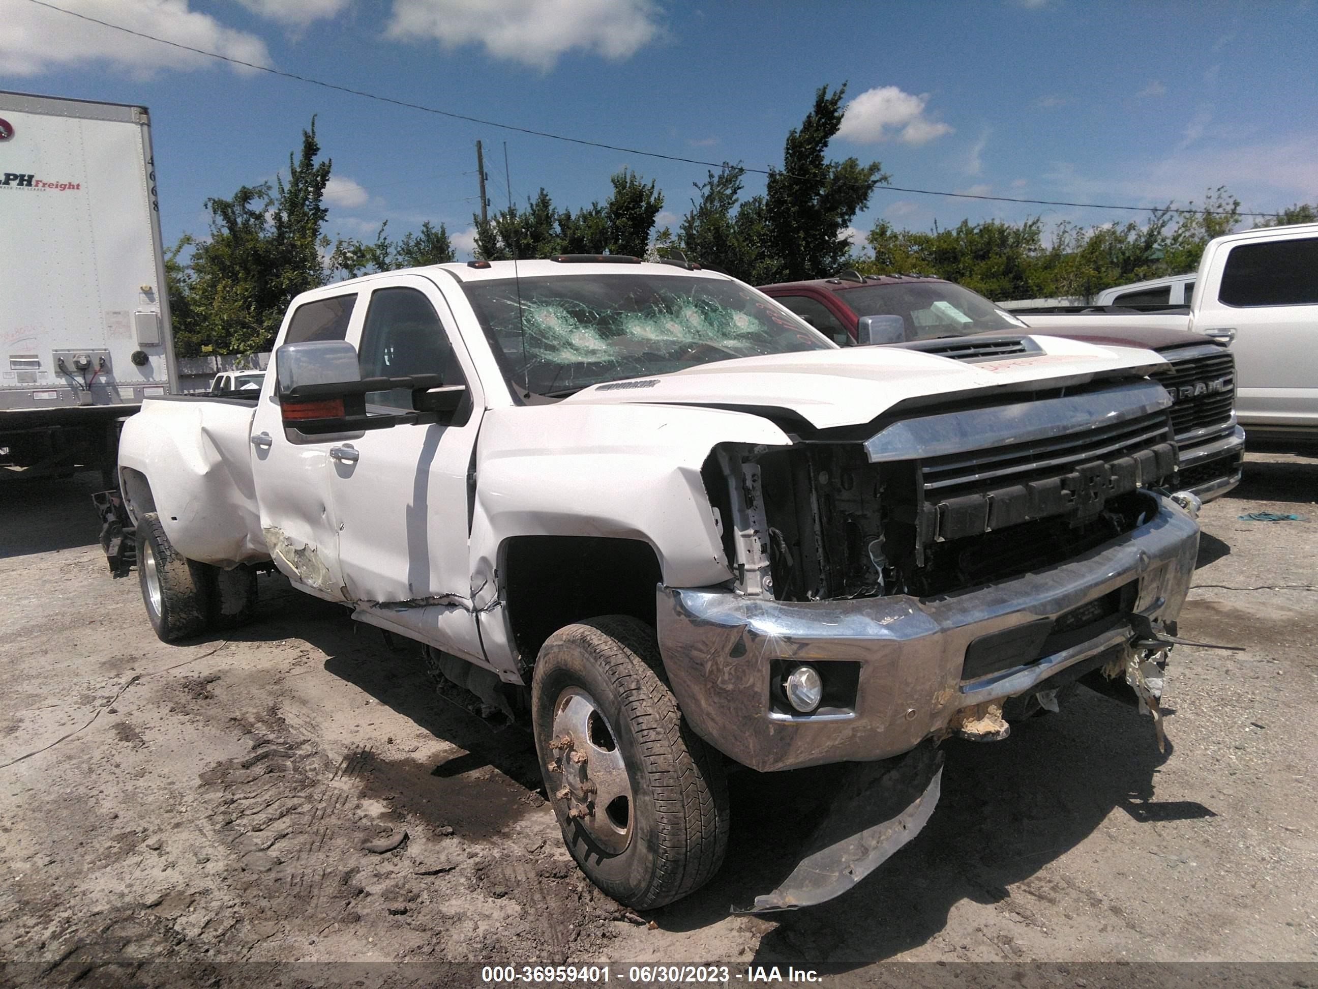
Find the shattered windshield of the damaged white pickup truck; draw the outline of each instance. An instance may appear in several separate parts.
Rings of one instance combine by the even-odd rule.
[[[833,348],[791,313],[722,278],[563,274],[463,289],[509,381],[539,396],[734,357]]]

